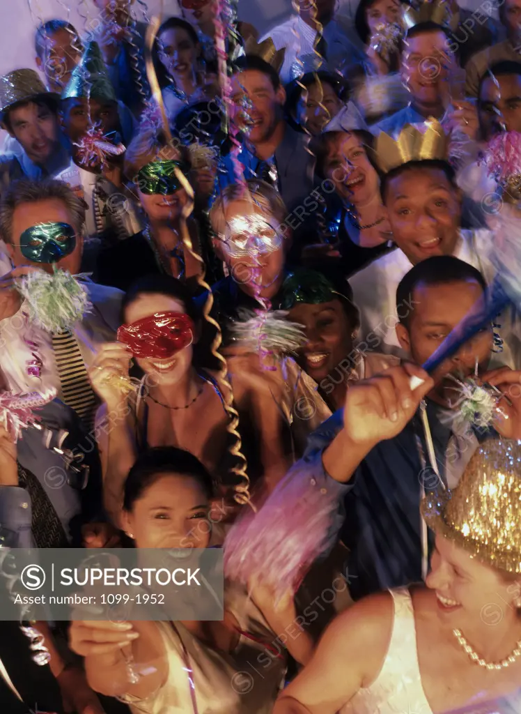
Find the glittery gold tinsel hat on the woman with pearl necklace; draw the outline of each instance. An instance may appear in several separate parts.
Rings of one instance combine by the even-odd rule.
[[[521,573],[521,442],[486,441],[459,486],[428,494],[421,510],[435,533],[472,558]]]

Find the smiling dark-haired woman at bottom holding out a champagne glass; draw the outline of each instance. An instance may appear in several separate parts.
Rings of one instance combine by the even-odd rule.
[[[123,494],[123,526],[136,548],[210,547],[213,479],[192,453],[171,446],[142,453]],[[200,556],[187,553],[183,563]],[[178,602],[183,591],[166,592],[165,600],[170,595]],[[248,593],[227,582],[223,610],[222,620],[125,623],[85,621],[77,612],[71,648],[85,658],[93,690],[116,696],[133,714],[270,714],[287,663],[286,650],[273,643],[296,618],[293,598],[275,607],[265,588]],[[288,641],[288,650],[304,664],[308,633]],[[137,676],[129,677],[129,667]]]

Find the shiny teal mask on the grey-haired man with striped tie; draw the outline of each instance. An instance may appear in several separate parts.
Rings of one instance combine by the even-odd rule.
[[[76,248],[76,231],[69,223],[37,223],[20,236],[20,250],[33,263],[58,263]]]

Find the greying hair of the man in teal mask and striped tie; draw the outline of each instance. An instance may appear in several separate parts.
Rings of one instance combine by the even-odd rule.
[[[64,181],[56,178],[44,178],[34,181],[31,178],[21,178],[13,181],[0,202],[0,236],[6,243],[11,243],[13,232],[14,211],[23,203],[39,203],[57,199],[62,201],[71,216],[73,228],[81,233],[85,223],[85,208],[81,198]]]

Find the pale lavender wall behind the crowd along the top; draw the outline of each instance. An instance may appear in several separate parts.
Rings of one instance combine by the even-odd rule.
[[[260,32],[285,18],[291,11],[290,0],[238,0],[239,17],[251,22]],[[148,0],[148,14],[160,11],[161,0]],[[32,15],[31,15],[32,9]],[[136,3],[138,9],[138,3]],[[34,64],[34,29],[52,18],[67,19],[83,31],[97,10],[91,0],[0,0],[0,74]],[[164,0],[163,15],[179,14],[176,0]]]

